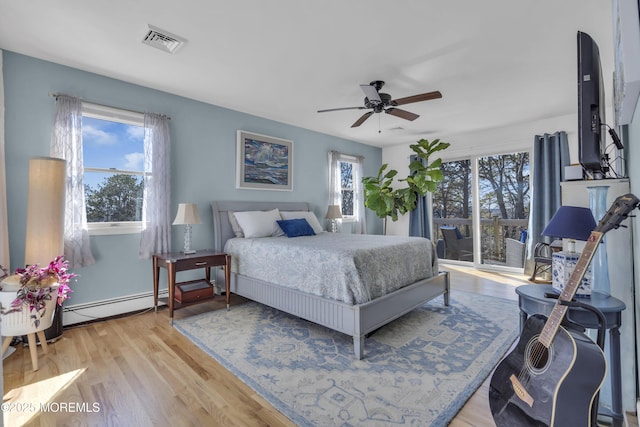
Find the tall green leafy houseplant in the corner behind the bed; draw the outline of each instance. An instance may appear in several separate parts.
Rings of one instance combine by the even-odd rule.
[[[444,176],[440,170],[442,159],[438,158],[430,162],[430,157],[437,151],[445,150],[449,143],[434,139],[429,142],[426,139],[417,141],[409,147],[418,157],[409,164],[409,175],[398,182],[405,182],[406,187],[394,189],[391,185],[398,171],[387,171],[388,164],[383,164],[378,171],[378,176],[364,177],[365,206],[376,213],[379,218],[386,221],[391,217],[398,220],[398,215],[411,212],[416,208],[418,196],[424,196],[427,192],[436,190],[436,186]]]

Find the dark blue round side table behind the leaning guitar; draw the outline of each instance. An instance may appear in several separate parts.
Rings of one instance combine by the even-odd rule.
[[[518,304],[520,306],[520,329],[524,327],[527,318],[532,314],[549,316],[557,299],[547,298],[545,294],[554,292],[551,285],[522,285],[516,288]],[[611,368],[611,414],[613,425],[621,427],[622,414],[622,373],[620,366],[620,326],[622,326],[622,311],[626,308],[624,302],[614,297],[592,294],[590,298],[579,298],[582,303],[599,309],[606,319],[605,329],[609,331],[609,357]],[[600,323],[592,312],[579,307],[569,307],[566,317],[587,329],[598,329]]]

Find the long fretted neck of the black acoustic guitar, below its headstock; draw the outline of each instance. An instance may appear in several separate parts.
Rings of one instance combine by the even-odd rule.
[[[580,282],[584,278],[584,275],[587,272],[587,268],[589,268],[589,264],[591,263],[591,260],[593,259],[593,256],[598,249],[598,245],[602,241],[603,236],[604,233],[602,232],[591,232],[591,235],[587,240],[587,244],[585,245],[580,258],[576,263],[576,267],[569,277],[569,281],[564,286],[562,293],[558,297],[558,301],[571,301],[573,299],[576,291],[578,290],[578,287],[580,286]],[[561,305],[559,303],[556,303],[556,305],[553,307],[553,310],[551,311],[551,314],[549,315],[549,318],[547,319],[547,322],[545,323],[544,328],[540,333],[539,341],[545,347],[551,347],[551,342],[558,332],[558,328],[560,327],[560,323],[562,322],[567,309],[568,307],[566,305]]]

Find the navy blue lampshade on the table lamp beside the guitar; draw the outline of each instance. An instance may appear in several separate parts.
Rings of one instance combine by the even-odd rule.
[[[589,208],[561,206],[542,231],[543,236],[562,239],[587,240],[596,228]]]

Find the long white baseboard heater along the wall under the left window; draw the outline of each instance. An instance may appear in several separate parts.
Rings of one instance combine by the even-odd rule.
[[[160,291],[159,296],[166,297],[167,291]],[[158,305],[164,305],[164,303],[158,303]],[[69,326],[76,323],[100,320],[144,309],[153,309],[153,292],[144,292],[84,304],[65,305],[62,325]]]

